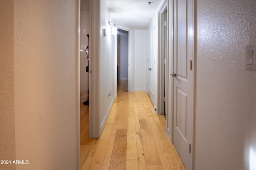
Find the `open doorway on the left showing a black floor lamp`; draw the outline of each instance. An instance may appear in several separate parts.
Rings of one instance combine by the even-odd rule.
[[[86,145],[91,145],[89,138],[89,30],[90,9],[89,0],[80,1],[80,151]]]

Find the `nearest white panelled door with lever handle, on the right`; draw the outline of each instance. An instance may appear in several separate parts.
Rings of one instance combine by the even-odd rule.
[[[187,170],[192,169],[193,146],[193,25],[193,0],[174,0],[173,143]]]

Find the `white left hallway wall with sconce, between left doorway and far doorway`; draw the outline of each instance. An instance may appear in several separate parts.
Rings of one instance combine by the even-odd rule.
[[[100,131],[102,132],[116,96],[117,35],[111,35],[111,17],[105,0],[100,0]],[[103,29],[107,36],[104,37]],[[111,96],[108,93],[111,91]]]

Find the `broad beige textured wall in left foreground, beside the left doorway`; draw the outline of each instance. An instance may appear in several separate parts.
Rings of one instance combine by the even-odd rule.
[[[14,0],[17,170],[79,168],[78,0]]]

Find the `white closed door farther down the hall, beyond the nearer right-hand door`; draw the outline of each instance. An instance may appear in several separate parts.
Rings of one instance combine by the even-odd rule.
[[[147,34],[147,92],[155,106],[155,20],[152,21]]]

